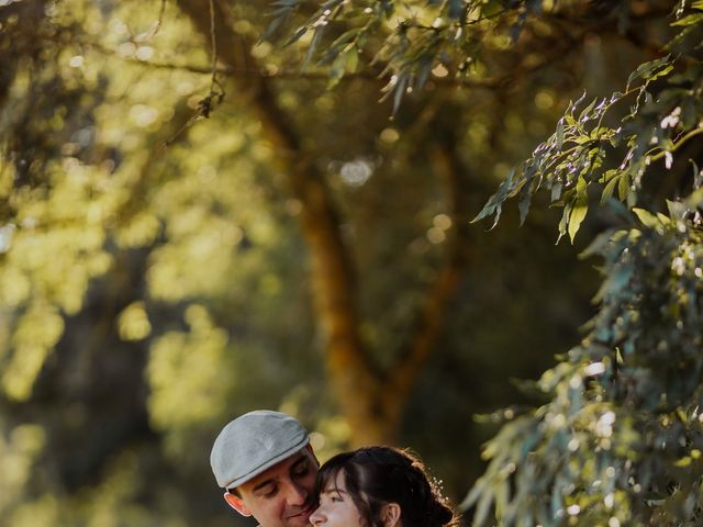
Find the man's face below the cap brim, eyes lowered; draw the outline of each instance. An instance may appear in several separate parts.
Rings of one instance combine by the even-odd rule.
[[[306,447],[237,486],[238,497],[227,494],[225,498],[261,527],[306,527],[315,508],[311,500],[319,468],[312,448]]]

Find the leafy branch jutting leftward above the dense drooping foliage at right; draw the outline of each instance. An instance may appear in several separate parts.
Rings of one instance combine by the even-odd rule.
[[[520,194],[524,221],[532,195],[544,186],[550,191],[551,202],[563,208],[559,237],[568,233],[573,242],[588,213],[591,183],[604,183],[601,204],[617,189],[617,198],[634,208],[649,167],[663,159],[669,170],[673,152],[701,133],[700,64],[693,63],[673,76],[672,63],[670,57],[663,57],[643,64],[629,77],[624,93],[594,99],[580,109],[578,116],[576,111],[583,98],[570,104],[554,135],[535,149],[517,172],[511,173],[476,220],[494,215],[498,223],[503,202]],[[631,87],[639,78],[644,82]],[[669,80],[669,89],[655,100],[650,85],[660,78]],[[634,101],[629,113],[617,121],[617,128],[603,125],[609,111],[628,97]],[[617,168],[604,169],[606,159],[607,166]]]

